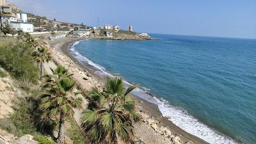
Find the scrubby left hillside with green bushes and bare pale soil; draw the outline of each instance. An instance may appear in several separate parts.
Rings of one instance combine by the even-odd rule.
[[[6,116],[8,113],[4,113],[2,116],[3,112],[0,111],[0,129],[18,138],[31,134],[38,143],[54,144],[56,142],[52,138],[54,138],[53,132],[58,127],[58,120],[43,118],[43,111],[39,108],[44,90],[42,90],[40,67],[38,67],[40,61],[35,53],[39,52],[37,49],[41,49],[40,47],[44,47],[43,42],[36,41],[26,34],[0,44],[0,84],[5,85],[4,88],[0,86],[1,93],[5,93],[0,95],[3,103],[1,109],[4,109],[4,106],[9,109],[6,112],[11,113],[8,116]],[[7,81],[9,75],[15,83]],[[68,122],[72,122],[72,118],[68,119]],[[76,131],[79,131],[79,127],[77,124],[72,124],[72,129],[67,129],[66,137],[84,143],[83,136]],[[0,133],[0,136],[2,134]]]

